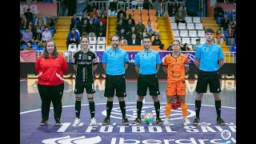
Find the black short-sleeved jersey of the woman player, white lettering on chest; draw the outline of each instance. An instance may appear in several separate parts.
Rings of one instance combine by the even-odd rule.
[[[98,62],[93,62],[94,58],[97,58],[97,54],[92,50],[88,50],[87,53],[83,53],[82,50],[74,53],[72,63],[77,65],[76,81],[88,82],[94,80],[93,65],[98,64]]]

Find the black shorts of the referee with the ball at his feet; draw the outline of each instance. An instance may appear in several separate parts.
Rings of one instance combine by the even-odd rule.
[[[157,74],[139,74],[137,82],[138,96],[146,96],[147,88],[150,89],[151,96],[157,96],[159,92],[158,75]]]

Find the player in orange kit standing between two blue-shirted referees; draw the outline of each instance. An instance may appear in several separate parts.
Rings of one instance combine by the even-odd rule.
[[[185,74],[189,71],[189,59],[185,54],[180,53],[181,45],[178,40],[172,42],[173,53],[166,55],[162,62],[163,70],[167,74],[166,86],[166,119],[164,125],[170,123],[170,111],[173,105],[173,99],[178,97],[181,102],[183,124],[190,125],[187,117],[186,105],[186,83]]]

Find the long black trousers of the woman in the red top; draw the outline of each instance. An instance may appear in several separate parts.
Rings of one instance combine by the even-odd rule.
[[[54,119],[61,119],[63,90],[64,83],[57,86],[38,84],[38,91],[42,100],[42,119],[49,119],[50,102],[53,102],[54,106]]]

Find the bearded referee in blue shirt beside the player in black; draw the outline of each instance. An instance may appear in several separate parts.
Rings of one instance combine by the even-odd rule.
[[[102,125],[110,123],[110,113],[113,107],[114,91],[115,96],[118,97],[119,106],[122,111],[122,123],[129,125],[126,118],[126,78],[125,72],[128,67],[129,58],[126,50],[122,50],[118,45],[120,38],[118,34],[114,34],[110,41],[112,47],[104,51],[102,56],[103,69],[106,71],[106,83],[104,96],[107,98],[106,102],[106,118]]]

